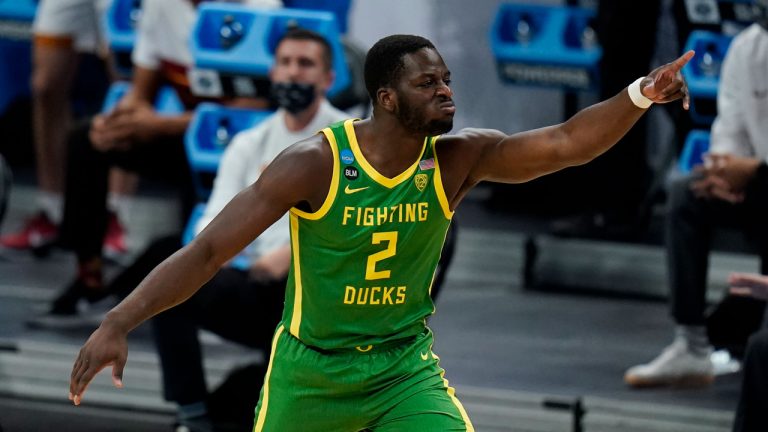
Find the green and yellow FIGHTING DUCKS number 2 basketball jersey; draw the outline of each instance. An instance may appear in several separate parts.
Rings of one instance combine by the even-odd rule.
[[[429,296],[453,212],[440,178],[437,137],[387,178],[365,160],[353,120],[322,133],[333,177],[322,207],[290,211],[291,271],[283,323],[321,349],[372,347],[415,336],[434,311]]]

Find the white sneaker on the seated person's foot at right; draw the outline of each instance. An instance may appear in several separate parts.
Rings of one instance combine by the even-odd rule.
[[[624,382],[632,387],[703,387],[715,379],[709,353],[691,353],[682,339],[676,339],[648,364],[629,368]]]

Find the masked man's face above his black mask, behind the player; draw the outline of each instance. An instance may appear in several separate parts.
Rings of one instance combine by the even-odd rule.
[[[325,93],[333,83],[333,72],[323,54],[318,42],[285,39],[275,52],[270,78],[272,82],[312,84],[318,94]]]

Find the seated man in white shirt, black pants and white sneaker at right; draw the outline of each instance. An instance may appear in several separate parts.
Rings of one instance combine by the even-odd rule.
[[[648,364],[630,368],[635,387],[707,385],[714,379],[704,326],[707,265],[715,227],[744,230],[768,273],[768,1],[763,19],[740,33],[723,62],[718,116],[706,163],[669,191],[667,253],[675,340]]]

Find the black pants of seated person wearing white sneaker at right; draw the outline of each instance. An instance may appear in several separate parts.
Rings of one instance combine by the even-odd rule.
[[[761,273],[768,274],[765,177],[765,170],[761,169],[740,204],[697,198],[690,190],[693,177],[673,181],[669,191],[666,242],[671,309],[676,323],[704,324],[709,252],[717,227],[744,231],[760,254]]]

